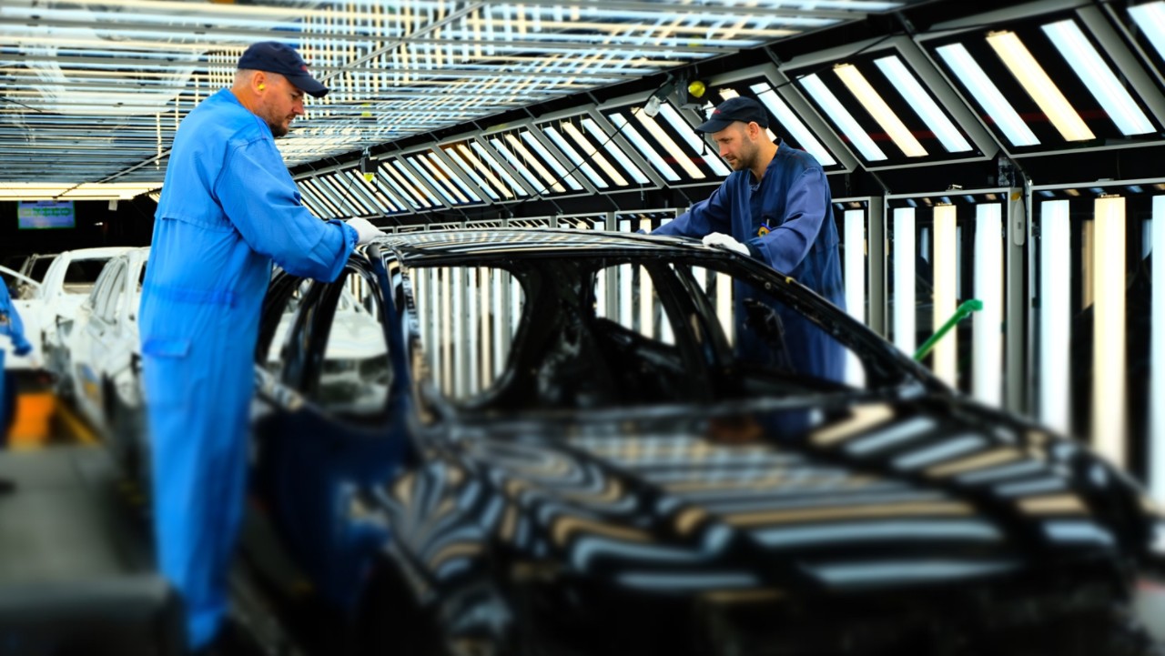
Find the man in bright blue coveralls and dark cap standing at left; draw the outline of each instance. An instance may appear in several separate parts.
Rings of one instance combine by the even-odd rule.
[[[271,263],[331,282],[355,245],[381,234],[365,219],[318,220],[301,203],[275,137],[304,114],[305,93],[329,90],[295,49],[255,43],[238,68],[174,139],[140,313],[157,563],[196,653],[213,648],[227,606]]]

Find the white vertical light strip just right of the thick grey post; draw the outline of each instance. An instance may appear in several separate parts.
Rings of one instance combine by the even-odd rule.
[[[1039,421],[1064,435],[1072,435],[1068,210],[1068,200],[1046,200],[1039,205]]]

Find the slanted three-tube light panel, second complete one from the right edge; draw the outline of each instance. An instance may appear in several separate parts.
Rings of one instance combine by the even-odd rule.
[[[782,70],[867,168],[983,156],[898,47]]]

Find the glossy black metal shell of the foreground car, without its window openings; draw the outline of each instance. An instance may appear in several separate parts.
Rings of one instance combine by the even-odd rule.
[[[869,390],[824,386],[730,400],[693,392],[696,402],[514,412],[465,411],[426,387],[415,268],[596,256],[728,261],[868,355],[878,380]],[[308,343],[295,354],[303,362],[264,385],[277,407],[264,432],[278,435],[268,440],[268,480],[295,481],[276,505],[292,542],[315,542],[297,551],[324,578],[338,559],[366,563],[376,534],[319,539],[329,532],[319,527],[347,535],[336,528],[347,515],[309,498],[355,489],[363,520],[375,517],[379,537],[391,535],[387,560],[418,602],[443,608],[451,634],[513,643],[531,614],[550,627],[565,612],[574,622],[563,630],[579,632],[576,640],[593,623],[623,626],[628,614],[652,635],[654,616],[668,622],[676,608],[713,607],[700,640],[726,640],[708,636],[728,630],[747,649],[741,636],[750,632],[795,630],[797,622],[783,625],[770,611],[804,623],[818,604],[855,605],[854,622],[894,609],[903,626],[942,615],[944,605],[1002,613],[1036,598],[1109,604],[1127,598],[1148,553],[1156,519],[1127,475],[1075,442],[951,392],[796,281],[746,258],[671,238],[496,231],[386,237],[353,261],[372,273],[383,301],[395,372],[386,425],[352,435],[305,419],[317,412],[289,388],[295,372],[320,358],[320,345]],[[264,317],[261,350],[274,320]],[[520,334],[537,329],[525,323]],[[324,450],[305,446],[320,431],[341,437]],[[297,451],[310,454],[288,456]],[[324,461],[340,464],[305,465]],[[305,475],[318,485],[304,486]],[[295,486],[303,489],[288,492]],[[309,515],[317,517],[311,530],[303,528]],[[339,587],[360,580],[362,565],[345,567]],[[656,616],[652,605],[668,611]],[[761,629],[708,619],[750,606],[769,608]],[[636,644],[624,633],[620,640]],[[699,651],[694,644],[708,643],[687,648]]]

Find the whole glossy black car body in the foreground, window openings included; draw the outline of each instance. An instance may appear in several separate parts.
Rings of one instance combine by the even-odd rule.
[[[264,305],[255,494],[368,653],[1156,653],[1127,616],[1158,529],[1135,481],[756,261],[431,232],[301,283]],[[340,394],[346,291],[382,331]],[[737,355],[734,306],[771,358]],[[775,308],[846,380],[785,365]]]

